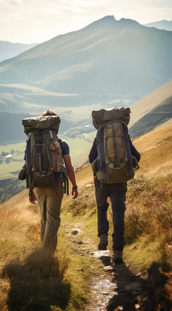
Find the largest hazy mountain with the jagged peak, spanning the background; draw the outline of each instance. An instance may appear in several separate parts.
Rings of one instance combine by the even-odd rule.
[[[172,78],[171,53],[171,32],[106,16],[2,62],[0,83],[64,93],[146,95]]]

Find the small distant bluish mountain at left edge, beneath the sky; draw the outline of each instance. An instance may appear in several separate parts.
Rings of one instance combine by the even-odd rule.
[[[37,43],[22,44],[22,43],[12,43],[9,41],[0,40],[0,62],[4,59],[15,57],[16,55],[31,49]]]

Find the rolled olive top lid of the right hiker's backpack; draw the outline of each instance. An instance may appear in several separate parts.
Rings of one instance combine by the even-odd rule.
[[[128,125],[130,113],[129,107],[96,109],[92,111],[93,125],[98,129],[100,125],[111,120],[122,120]]]

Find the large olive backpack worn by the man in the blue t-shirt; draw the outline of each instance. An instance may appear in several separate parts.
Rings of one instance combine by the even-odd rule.
[[[59,116],[26,118],[22,120],[22,124],[27,135],[26,164],[20,171],[19,177],[26,177],[29,196],[32,195],[33,188],[57,188],[61,187],[64,182],[65,192],[67,183],[67,194],[69,194],[67,171],[63,165],[61,152],[59,152],[61,149],[57,138],[60,124]],[[54,160],[56,159],[54,156],[56,148],[58,148],[57,168],[53,167],[52,164],[56,163]]]

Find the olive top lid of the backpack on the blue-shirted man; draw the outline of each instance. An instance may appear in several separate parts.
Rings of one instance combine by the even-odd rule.
[[[24,125],[26,135],[32,132],[34,128],[37,128],[37,129],[51,128],[56,133],[58,133],[60,118],[59,116],[53,116],[53,115],[32,117],[32,118],[23,119],[22,124]]]

